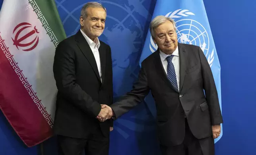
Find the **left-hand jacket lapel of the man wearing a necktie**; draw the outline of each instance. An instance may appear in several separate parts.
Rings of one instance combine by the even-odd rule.
[[[158,74],[162,77],[162,79],[166,82],[166,84],[171,87],[174,91],[178,91],[175,87],[173,87],[171,81],[169,81],[167,74],[165,72],[165,69],[163,68],[163,64],[161,62],[160,54],[159,54],[159,49],[155,51],[155,67],[158,72]]]

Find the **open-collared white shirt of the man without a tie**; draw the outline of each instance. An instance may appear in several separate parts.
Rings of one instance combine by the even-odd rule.
[[[98,71],[99,71],[99,77],[101,77],[102,82],[102,76],[101,76],[101,58],[99,57],[99,46],[101,45],[99,42],[99,38],[97,37],[95,39],[95,42],[93,42],[86,34],[80,29],[81,33],[83,34],[85,40],[89,44],[91,51],[93,52],[94,58],[97,63]]]

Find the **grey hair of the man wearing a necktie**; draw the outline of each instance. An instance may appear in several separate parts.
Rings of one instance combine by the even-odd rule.
[[[159,15],[157,17],[155,17],[151,22],[150,22],[150,26],[149,26],[149,29],[150,29],[150,34],[152,36],[152,38],[155,38],[155,28],[163,23],[165,23],[166,21],[170,21],[171,23],[173,23],[173,26],[175,28],[175,31],[176,31],[176,23],[173,19],[171,19],[171,17],[165,17],[163,15]]]

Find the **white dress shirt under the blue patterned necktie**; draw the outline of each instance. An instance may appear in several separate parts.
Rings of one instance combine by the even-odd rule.
[[[175,73],[176,73],[176,78],[177,78],[177,84],[178,84],[178,90],[180,90],[180,59],[179,59],[179,54],[178,54],[178,46],[175,49],[175,51],[171,54],[174,55],[172,62],[175,68]],[[160,51],[160,58],[163,64],[163,68],[165,69],[165,73],[167,74],[167,60],[166,58],[169,55],[163,53],[162,51]]]

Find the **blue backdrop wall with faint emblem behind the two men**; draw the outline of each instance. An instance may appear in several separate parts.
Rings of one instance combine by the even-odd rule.
[[[0,0],[0,6],[3,0]],[[81,6],[88,0],[56,0],[67,36],[79,26]],[[105,31],[100,37],[112,49],[114,96],[132,88],[156,0],[99,0],[107,8]],[[213,40],[221,64],[223,136],[216,155],[255,155],[256,109],[256,2],[204,0]],[[252,44],[252,45],[251,45]],[[56,155],[56,139],[43,143],[45,155]],[[140,104],[114,123],[110,155],[156,155],[153,116]],[[0,112],[0,155],[37,155],[40,146],[27,148]]]

